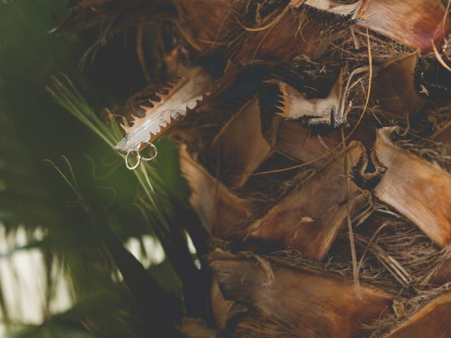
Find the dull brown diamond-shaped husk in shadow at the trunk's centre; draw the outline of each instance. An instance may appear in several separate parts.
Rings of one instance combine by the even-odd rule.
[[[271,154],[271,145],[261,133],[259,99],[245,104],[216,134],[212,144],[218,154],[221,177],[242,187],[249,175]]]

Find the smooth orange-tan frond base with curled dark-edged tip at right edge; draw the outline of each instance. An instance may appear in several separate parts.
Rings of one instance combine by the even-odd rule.
[[[443,248],[451,242],[451,175],[395,146],[390,135],[396,129],[387,127],[377,132],[373,164],[376,172],[386,169],[373,192]],[[366,175],[361,171],[359,177],[365,179]]]

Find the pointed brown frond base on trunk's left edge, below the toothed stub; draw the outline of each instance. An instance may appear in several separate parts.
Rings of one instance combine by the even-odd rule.
[[[227,237],[234,225],[248,218],[251,204],[212,177],[184,145],[180,146],[180,167],[191,188],[190,204],[211,234]]]

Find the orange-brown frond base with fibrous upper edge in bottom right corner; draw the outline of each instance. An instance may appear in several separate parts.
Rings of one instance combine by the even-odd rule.
[[[368,326],[369,338],[450,337],[451,284],[420,292]]]

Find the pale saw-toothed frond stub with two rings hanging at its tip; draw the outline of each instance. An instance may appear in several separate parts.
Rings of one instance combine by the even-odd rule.
[[[166,131],[173,121],[183,118],[187,111],[197,106],[213,83],[214,78],[201,67],[183,70],[171,87],[158,93],[161,101],[149,101],[152,108],[142,106],[143,117],[135,118],[131,126],[122,126],[126,135],[115,149],[123,154],[140,150],[146,142]]]

